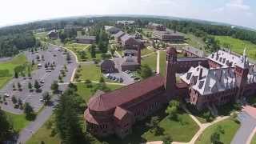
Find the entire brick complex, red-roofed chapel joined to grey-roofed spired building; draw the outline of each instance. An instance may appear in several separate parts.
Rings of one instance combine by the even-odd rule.
[[[90,98],[84,114],[87,130],[99,137],[116,134],[123,138],[131,133],[134,122],[146,118],[173,98],[185,98],[202,109],[256,94],[256,72],[246,54],[234,66],[213,68],[207,63],[210,61],[210,58],[182,61],[174,48],[167,48],[165,78],[156,75],[109,93],[98,92]],[[190,69],[177,83],[176,73],[186,70],[181,70],[182,63]]]

